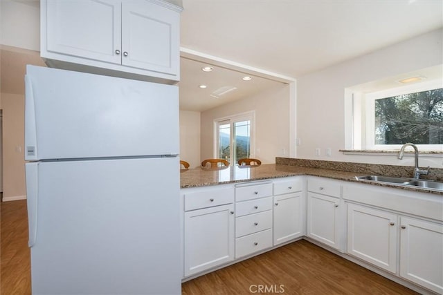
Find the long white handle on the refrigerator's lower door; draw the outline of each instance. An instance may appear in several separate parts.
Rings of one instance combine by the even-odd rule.
[[[38,162],[26,163],[26,202],[28,204],[28,246],[33,247],[37,240],[37,217],[38,217]]]

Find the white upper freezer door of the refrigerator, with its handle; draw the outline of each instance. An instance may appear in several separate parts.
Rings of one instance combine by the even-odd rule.
[[[179,153],[177,86],[26,66],[25,159]]]

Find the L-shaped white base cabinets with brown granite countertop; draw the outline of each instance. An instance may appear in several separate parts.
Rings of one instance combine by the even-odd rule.
[[[183,276],[300,239],[422,294],[443,292],[443,191],[356,180],[412,168],[276,158],[182,170]],[[443,169],[428,180],[442,181]]]

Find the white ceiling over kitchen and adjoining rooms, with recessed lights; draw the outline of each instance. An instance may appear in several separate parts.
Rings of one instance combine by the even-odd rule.
[[[15,1],[38,6],[38,1]],[[272,81],[273,75],[297,78],[443,27],[440,0],[183,0],[183,7],[182,50],[229,61],[181,58],[180,107],[188,111],[275,87],[280,82]],[[24,92],[25,64],[43,61],[38,53],[2,47],[2,92]],[[208,64],[214,70],[201,71]],[[242,65],[245,70],[239,70]],[[258,72],[251,76],[248,68]],[[259,77],[260,72],[271,75]],[[253,79],[242,81],[245,73]]]

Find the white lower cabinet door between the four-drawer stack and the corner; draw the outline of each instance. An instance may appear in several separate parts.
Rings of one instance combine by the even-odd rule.
[[[302,194],[274,197],[274,246],[302,236]]]

